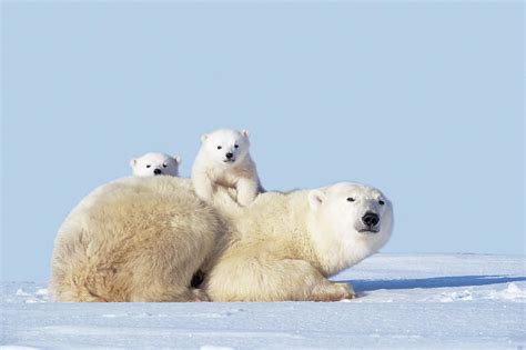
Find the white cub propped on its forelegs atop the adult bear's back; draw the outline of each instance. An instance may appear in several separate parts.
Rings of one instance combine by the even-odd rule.
[[[211,202],[216,187],[234,188],[237,202],[249,206],[263,189],[249,153],[249,131],[220,129],[201,137],[192,167],[195,193]]]

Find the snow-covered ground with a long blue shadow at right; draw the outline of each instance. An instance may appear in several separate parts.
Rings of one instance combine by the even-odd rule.
[[[279,303],[53,303],[1,284],[7,348],[526,349],[526,258],[376,254],[333,278],[358,299]]]

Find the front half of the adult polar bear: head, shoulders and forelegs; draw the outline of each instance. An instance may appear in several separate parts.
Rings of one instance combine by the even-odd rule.
[[[372,187],[337,183],[291,193],[266,192],[249,208],[216,200],[232,227],[203,267],[213,301],[337,301],[354,298],[327,277],[382,248],[393,209]]]

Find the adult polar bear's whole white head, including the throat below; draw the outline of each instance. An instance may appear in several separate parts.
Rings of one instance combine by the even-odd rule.
[[[330,274],[381,249],[393,230],[393,207],[377,189],[342,182],[308,192],[308,226]]]

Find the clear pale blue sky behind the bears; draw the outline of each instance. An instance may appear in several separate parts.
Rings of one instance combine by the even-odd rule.
[[[390,252],[524,253],[522,2],[3,2],[2,279],[146,151],[247,128],[267,189],[374,184]]]

